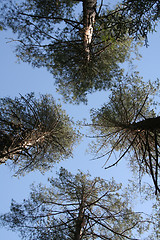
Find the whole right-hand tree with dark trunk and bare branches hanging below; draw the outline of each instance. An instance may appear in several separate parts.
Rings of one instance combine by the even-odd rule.
[[[152,109],[151,96],[157,89],[158,85],[147,85],[136,75],[126,76],[113,89],[109,102],[91,114],[91,129],[97,138],[93,144],[96,156],[107,157],[107,163],[119,151],[118,160],[108,166],[111,167],[129,153],[132,170],[137,172],[139,167],[141,175],[149,174],[156,194],[160,193],[160,117]]]

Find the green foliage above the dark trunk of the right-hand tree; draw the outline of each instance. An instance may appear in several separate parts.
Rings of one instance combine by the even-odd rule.
[[[158,85],[154,86],[150,82],[148,84],[143,82],[136,72],[131,76],[127,74],[121,77],[117,85],[112,87],[109,102],[99,110],[91,110],[94,129],[100,131],[100,134],[106,134],[115,127],[125,127],[135,120],[140,121],[144,119],[143,116],[146,118],[155,116],[151,110],[151,103],[153,104],[157,87]]]

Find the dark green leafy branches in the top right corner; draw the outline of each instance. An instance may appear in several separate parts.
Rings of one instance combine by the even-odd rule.
[[[145,38],[147,45],[147,36],[155,31],[160,17],[159,1],[147,0],[123,0],[113,10],[108,11],[106,15],[103,12],[100,16],[103,28],[110,28],[116,36],[121,36],[125,31],[135,39]]]

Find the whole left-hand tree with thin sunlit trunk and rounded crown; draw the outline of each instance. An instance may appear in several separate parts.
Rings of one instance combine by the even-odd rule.
[[[19,173],[39,169],[72,155],[77,140],[72,121],[50,95],[0,99],[0,163],[11,160]]]

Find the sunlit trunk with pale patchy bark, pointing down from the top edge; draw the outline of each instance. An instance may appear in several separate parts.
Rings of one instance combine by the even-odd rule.
[[[96,18],[96,4],[97,0],[83,0],[83,46],[87,62],[90,60],[90,44]]]

